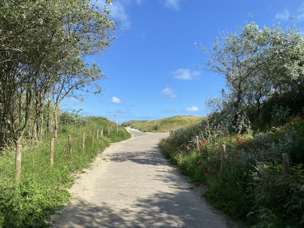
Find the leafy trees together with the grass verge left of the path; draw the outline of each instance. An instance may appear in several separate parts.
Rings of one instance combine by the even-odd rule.
[[[106,76],[90,56],[116,39],[119,22],[89,0],[0,0],[0,227],[45,227],[46,216],[68,201],[71,174],[110,142],[130,138],[104,118],[62,112],[62,103],[101,92]],[[94,147],[92,129],[104,129]],[[85,150],[82,152],[82,133]],[[67,136],[71,135],[72,154]],[[54,166],[50,166],[50,138]],[[15,180],[16,144],[22,144]]]

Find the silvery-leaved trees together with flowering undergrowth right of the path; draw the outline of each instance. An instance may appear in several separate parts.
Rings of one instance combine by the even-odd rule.
[[[260,29],[246,22],[220,34],[212,48],[199,49],[209,57],[204,69],[222,75],[226,88],[206,102],[208,117],[176,129],[159,146],[233,219],[250,227],[303,227],[303,36],[295,26]],[[227,151],[220,174],[222,145]]]

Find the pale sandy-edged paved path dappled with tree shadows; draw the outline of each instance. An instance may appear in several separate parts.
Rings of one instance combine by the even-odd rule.
[[[54,227],[231,227],[163,157],[157,142],[167,133],[128,130],[137,137],[112,144],[79,175]]]

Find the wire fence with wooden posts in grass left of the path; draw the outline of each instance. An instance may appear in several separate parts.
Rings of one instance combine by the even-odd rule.
[[[115,125],[113,124],[111,126],[112,127],[109,127],[109,133],[117,132],[116,128],[113,128],[113,126]],[[70,143],[68,138],[51,139],[54,140],[53,150],[51,148],[51,142],[38,143],[37,145],[34,146],[26,144],[23,148],[22,145],[17,145],[15,152],[9,152],[8,154],[2,154],[2,155],[0,154],[0,177],[5,179],[15,178],[16,180],[19,180],[20,174],[26,173],[27,168],[30,166],[36,167],[35,172],[36,173],[38,172],[39,174],[50,172],[51,167],[53,166],[51,162],[51,157],[52,158],[57,156],[59,156],[58,158],[70,157],[70,159],[73,160],[73,152],[75,150],[78,153],[80,151],[84,153],[85,147],[87,147],[88,145],[94,147],[94,141],[96,141],[97,138],[99,140],[104,139],[102,136],[104,136],[105,133],[108,132],[106,131],[103,132],[103,134],[101,133],[102,131],[98,131],[98,136],[95,132],[94,134],[92,132],[85,134],[77,133],[75,137],[73,138],[71,137]],[[60,146],[60,147],[58,148],[58,152],[54,153],[54,147],[56,148],[56,146]],[[36,150],[36,154],[33,155],[33,160],[31,160],[32,157],[30,157],[29,155],[30,153],[28,152],[33,150]],[[90,156],[90,153],[88,153],[87,155]],[[59,160],[56,161],[60,163]],[[40,165],[40,168],[37,169],[38,164]],[[18,167],[18,165],[20,165],[20,167]],[[46,167],[50,167],[50,169]]]

